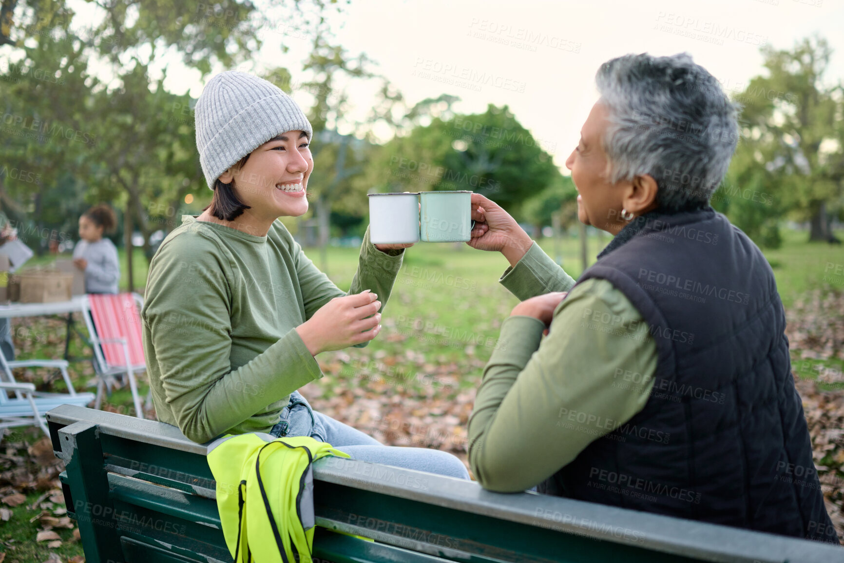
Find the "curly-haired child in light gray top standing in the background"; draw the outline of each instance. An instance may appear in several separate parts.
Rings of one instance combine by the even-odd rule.
[[[73,263],[85,273],[85,293],[117,293],[120,263],[114,243],[103,238],[117,225],[114,210],[105,203],[95,205],[79,218],[79,238],[73,249]]]

